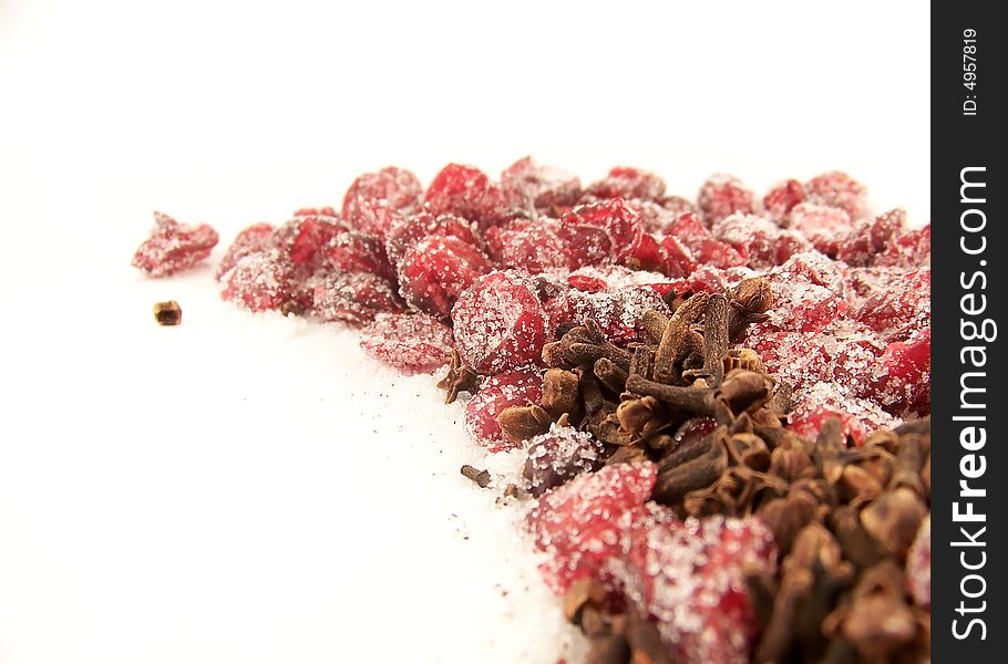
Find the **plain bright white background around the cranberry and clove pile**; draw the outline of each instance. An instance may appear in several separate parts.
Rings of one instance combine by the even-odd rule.
[[[430,378],[144,280],[153,209],[226,243],[534,154],[688,196],[842,168],[930,220],[926,4],[322,4],[0,0],[3,664],[577,657]]]

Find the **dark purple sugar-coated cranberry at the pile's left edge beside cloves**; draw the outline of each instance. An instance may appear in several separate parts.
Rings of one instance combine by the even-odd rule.
[[[528,440],[525,481],[536,498],[583,473],[592,473],[605,459],[605,446],[586,432],[553,425],[548,433]]]

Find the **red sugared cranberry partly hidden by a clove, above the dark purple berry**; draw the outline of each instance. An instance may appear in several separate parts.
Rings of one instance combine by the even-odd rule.
[[[497,416],[511,406],[527,406],[543,396],[543,378],[538,371],[524,369],[491,376],[465,404],[463,423],[473,440],[491,452],[514,449],[501,433]]]

